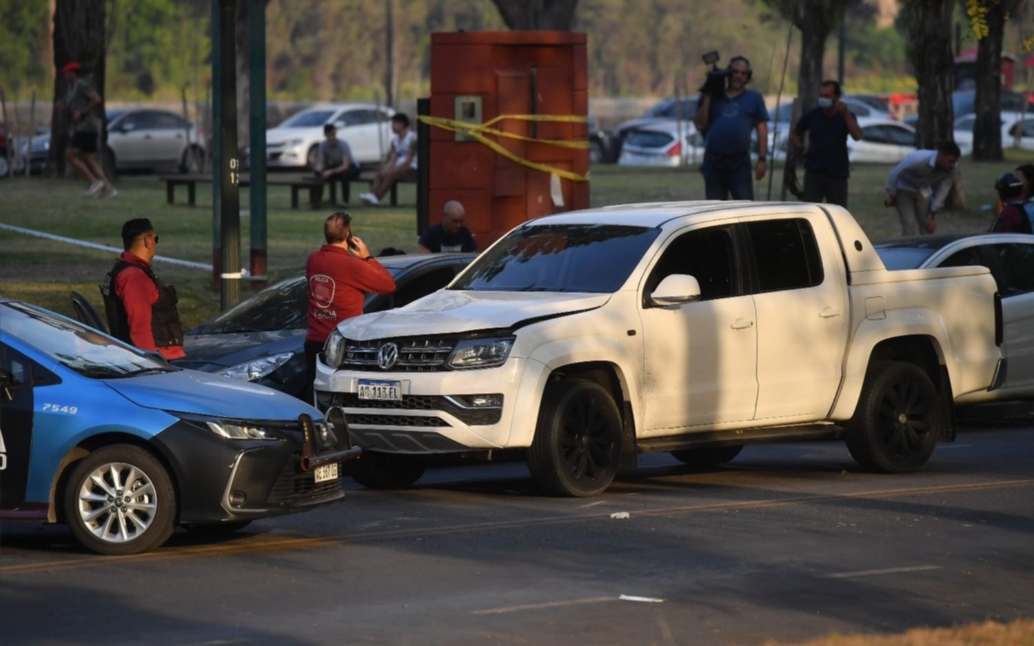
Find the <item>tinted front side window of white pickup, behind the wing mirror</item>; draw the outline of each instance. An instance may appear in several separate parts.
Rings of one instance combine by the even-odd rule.
[[[672,274],[696,278],[700,283],[701,301],[738,295],[731,228],[704,228],[675,239],[646,280],[645,294],[652,294],[661,281]]]

